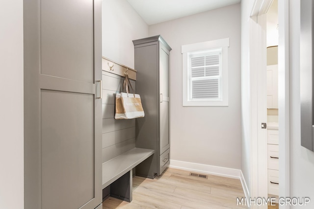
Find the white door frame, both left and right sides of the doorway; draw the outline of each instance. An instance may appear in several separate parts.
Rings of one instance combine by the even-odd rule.
[[[262,77],[260,79],[262,83],[253,81],[256,80],[257,76],[263,76],[263,72],[266,71],[266,59],[264,58],[266,54],[266,37],[263,33],[266,28],[265,14],[272,1],[255,0],[250,19],[251,198],[267,198],[267,167],[265,167],[265,165],[267,166],[267,149],[265,149],[267,139],[260,128],[261,122],[263,120],[266,122],[266,107],[263,107],[266,102],[266,80]],[[289,197],[289,0],[278,0],[278,22],[280,25],[278,44],[279,197]],[[261,64],[262,66],[259,66]],[[257,96],[254,93],[257,93]],[[259,175],[261,173],[264,175]],[[266,206],[252,206],[251,208],[266,209]],[[289,209],[289,206],[281,206],[281,209]]]

